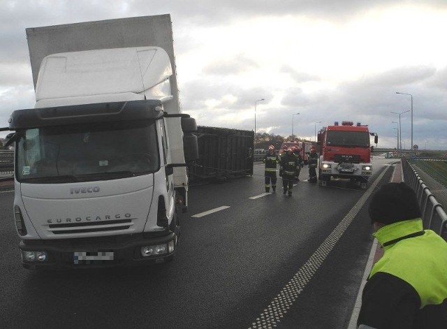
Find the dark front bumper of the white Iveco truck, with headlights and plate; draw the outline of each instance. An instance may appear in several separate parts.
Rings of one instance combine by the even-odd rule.
[[[117,266],[146,265],[170,261],[177,249],[177,237],[173,232],[163,235],[149,233],[115,235],[111,237],[22,240],[20,251],[22,265],[29,269],[78,269],[108,268]],[[164,246],[164,247],[163,247]],[[147,247],[147,256],[142,248]],[[153,255],[158,248],[163,254]],[[34,260],[31,254],[34,252]],[[43,256],[44,255],[44,256]],[[39,259],[40,258],[40,259]],[[44,260],[41,260],[45,258]]]

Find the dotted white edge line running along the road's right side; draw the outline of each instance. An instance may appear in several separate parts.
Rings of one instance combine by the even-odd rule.
[[[310,256],[307,262],[302,265],[298,272],[293,275],[292,279],[282,288],[278,295],[273,298],[270,305],[264,309],[263,313],[251,324],[251,329],[263,329],[274,328],[279,321],[285,316],[289,309],[298,299],[300,293],[304,290],[305,286],[309,283],[316,271],[320,268],[321,264],[328,256],[330,251],[335,247],[335,244],[342,237],[343,233],[349,227],[353,219],[356,217],[363,205],[365,205],[367,199],[374,191],[377,184],[379,184],[383,175],[387,170],[383,170],[379,177],[371,184],[369,189],[360,197],[356,205],[346,214],[344,219],[340,221],[337,227],[326,237],[323,243],[314,251],[314,254]]]

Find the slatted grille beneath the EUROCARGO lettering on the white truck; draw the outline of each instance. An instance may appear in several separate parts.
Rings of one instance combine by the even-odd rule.
[[[132,219],[119,219],[115,221],[98,221],[87,223],[64,223],[50,224],[48,231],[53,234],[75,234],[75,233],[91,233],[91,232],[107,232],[127,230],[133,226]]]

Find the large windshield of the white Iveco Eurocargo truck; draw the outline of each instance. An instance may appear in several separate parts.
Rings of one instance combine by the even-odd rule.
[[[154,173],[159,167],[153,121],[27,129],[17,142],[20,182],[114,180]]]

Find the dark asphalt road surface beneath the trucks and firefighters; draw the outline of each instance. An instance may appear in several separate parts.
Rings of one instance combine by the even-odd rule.
[[[0,328],[346,328],[372,245],[367,190],[252,177],[192,187],[173,262],[40,272],[20,264],[13,193],[0,193]]]

